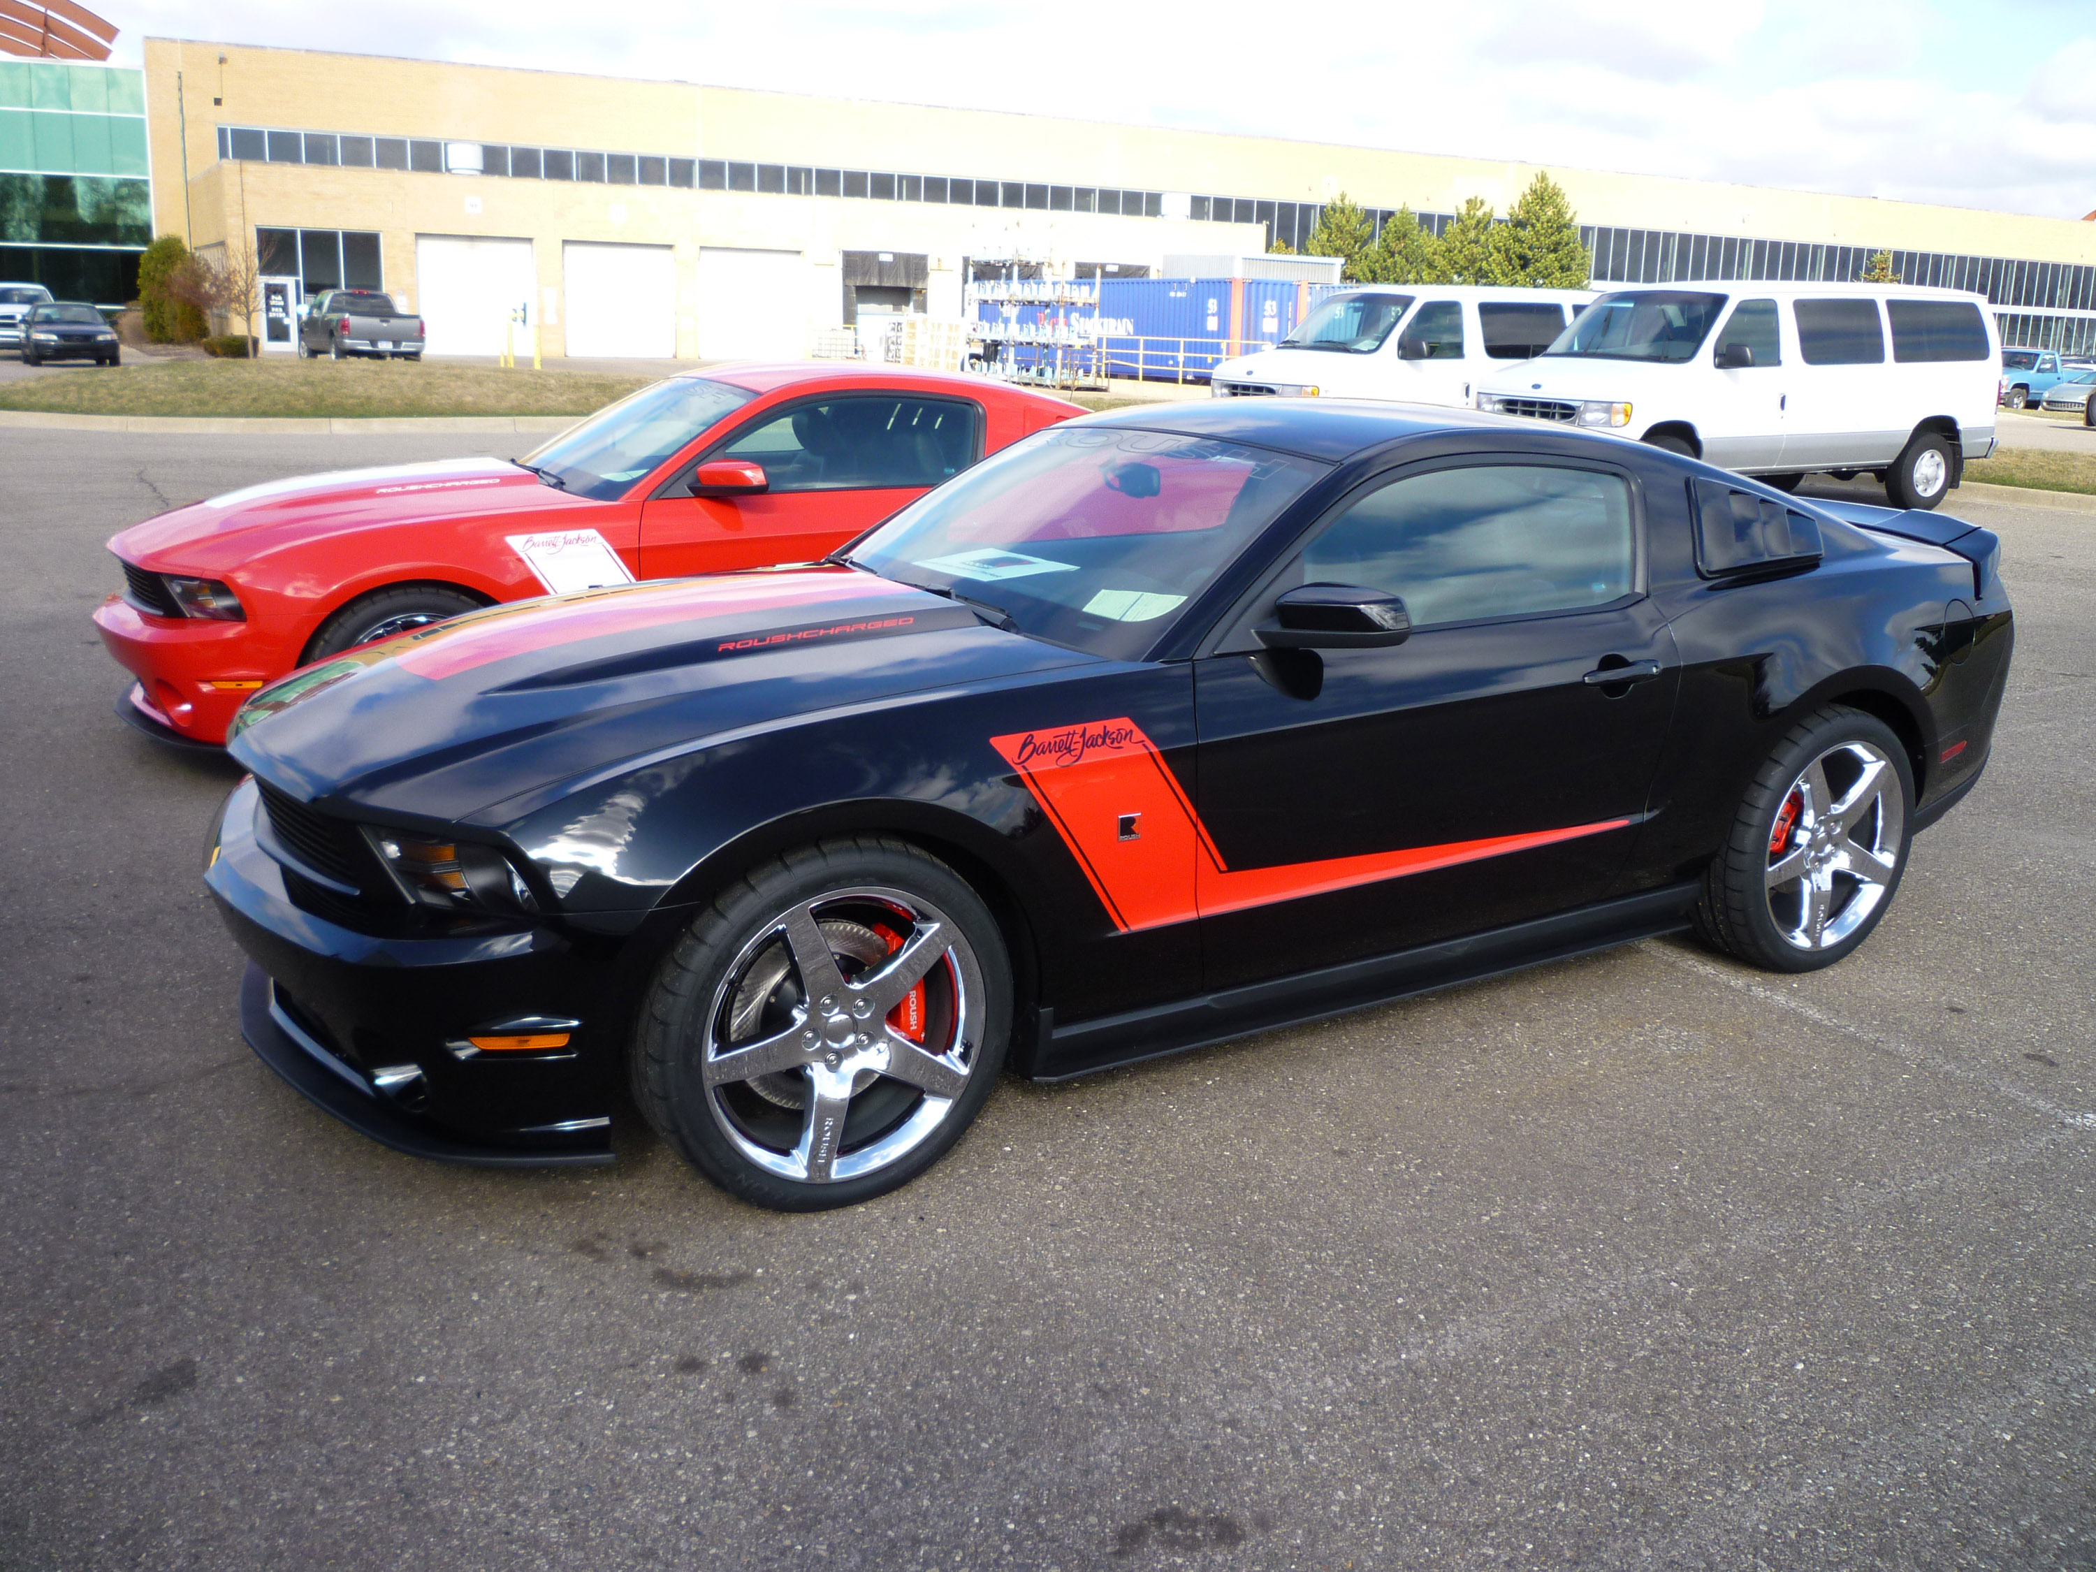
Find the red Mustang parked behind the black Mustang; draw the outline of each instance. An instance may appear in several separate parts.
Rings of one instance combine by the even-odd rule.
[[[247,486],[136,524],[94,612],[138,681],[117,713],[216,746],[296,667],[495,602],[811,562],[1027,432],[1061,398],[893,367],[658,381],[524,459]]]

